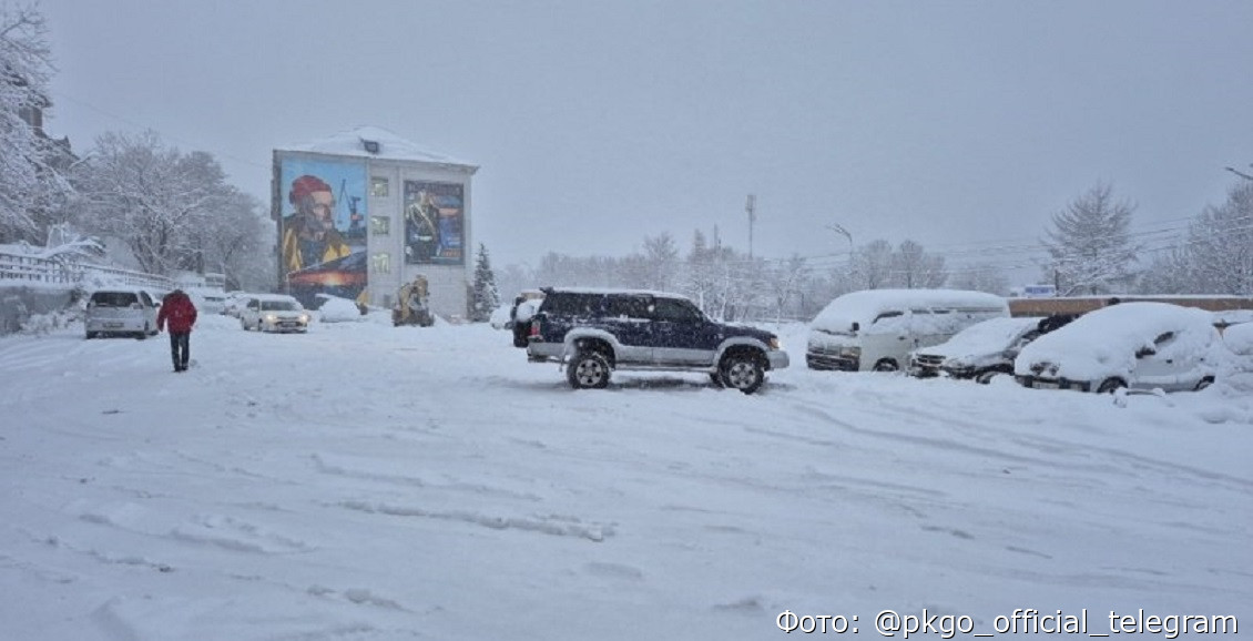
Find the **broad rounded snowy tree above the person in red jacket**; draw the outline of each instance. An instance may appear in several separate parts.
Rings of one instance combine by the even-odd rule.
[[[239,198],[211,154],[179,153],[152,131],[101,135],[73,179],[79,227],[124,239],[154,274],[200,270],[222,212]]]

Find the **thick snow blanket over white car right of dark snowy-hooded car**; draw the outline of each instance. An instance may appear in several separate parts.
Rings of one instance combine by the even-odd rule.
[[[1121,303],[1089,312],[1032,341],[1019,353],[1015,372],[1054,363],[1059,377],[1073,381],[1123,376],[1135,367],[1135,352],[1154,347],[1154,339],[1168,332],[1174,338],[1162,346],[1163,357],[1212,349],[1218,336],[1209,312],[1170,303]]]

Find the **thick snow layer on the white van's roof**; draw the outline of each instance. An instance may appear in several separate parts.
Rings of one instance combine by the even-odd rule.
[[[813,328],[847,332],[853,323],[867,326],[885,312],[912,307],[969,307],[1004,309],[1009,303],[996,294],[965,289],[863,289],[841,295],[813,319]]]

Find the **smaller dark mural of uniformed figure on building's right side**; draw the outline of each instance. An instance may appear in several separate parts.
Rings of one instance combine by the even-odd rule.
[[[405,262],[465,264],[464,185],[405,180]]]

